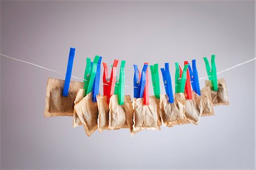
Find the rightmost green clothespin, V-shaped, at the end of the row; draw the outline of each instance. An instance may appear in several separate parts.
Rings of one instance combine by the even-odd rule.
[[[210,69],[209,61],[207,57],[204,57],[204,63],[207,69],[207,74],[209,77],[209,80],[212,82],[213,91],[218,91],[218,82],[217,82],[217,70],[216,70],[216,64],[215,64],[215,55],[212,55],[212,59],[210,60],[212,63],[212,69]]]

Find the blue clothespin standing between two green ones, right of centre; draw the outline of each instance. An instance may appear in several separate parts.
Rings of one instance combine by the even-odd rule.
[[[174,103],[174,94],[172,93],[172,80],[169,70],[169,63],[164,63],[164,68],[161,68],[164,81],[164,88],[166,89],[166,94],[169,98],[169,102]]]

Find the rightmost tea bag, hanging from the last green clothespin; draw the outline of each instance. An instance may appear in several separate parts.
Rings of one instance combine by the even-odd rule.
[[[226,81],[224,78],[218,78],[218,91],[212,90],[212,102],[213,106],[216,105],[229,105],[228,91],[226,88]],[[212,82],[205,81],[205,86],[209,86],[212,89]]]

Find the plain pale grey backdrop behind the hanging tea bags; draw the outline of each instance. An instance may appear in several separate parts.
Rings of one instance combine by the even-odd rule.
[[[126,60],[126,85],[133,85],[133,64],[169,62],[174,84],[175,62],[196,59],[205,77],[204,56],[216,55],[217,71],[254,58],[254,12],[254,1],[3,1],[1,53],[65,72],[75,47],[78,77],[86,57],[101,55],[109,66]],[[43,116],[47,78],[63,75],[1,57],[1,168],[254,169],[254,68],[251,62],[218,75],[230,105],[214,107],[198,126],[88,137],[72,117]],[[133,88],[125,92],[133,97]]]

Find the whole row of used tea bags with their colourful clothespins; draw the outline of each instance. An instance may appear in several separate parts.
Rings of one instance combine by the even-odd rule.
[[[103,63],[104,94],[101,96],[98,89],[102,57],[96,56],[93,62],[87,59],[84,82],[77,82],[70,81],[72,71],[70,63],[73,63],[74,55],[75,51],[69,53],[65,81],[48,78],[44,117],[72,116],[73,127],[83,126],[88,136],[97,129],[102,132],[128,128],[133,135],[141,130],[160,130],[160,126],[173,127],[187,123],[197,125],[201,116],[214,115],[214,105],[229,104],[225,80],[223,78],[217,80],[217,76],[214,76],[216,75],[214,60],[212,60],[212,69],[209,71],[207,69],[209,81],[205,82],[203,89],[199,86],[194,60],[192,60],[193,69],[185,61],[183,71],[176,63],[174,94],[168,63],[165,69],[161,69],[166,94],[160,94],[158,64],[151,65],[154,96],[149,96],[148,93],[148,63],[144,63],[142,73],[139,72],[137,65],[134,65],[134,98],[132,99],[124,93],[125,61],[121,63],[119,78],[117,77],[118,60],[112,65],[110,77],[108,67]]]

